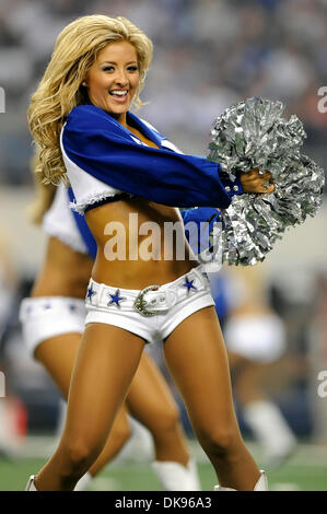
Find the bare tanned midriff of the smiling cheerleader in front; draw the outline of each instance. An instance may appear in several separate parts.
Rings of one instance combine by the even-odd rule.
[[[135,127],[127,128],[149,147],[157,148]],[[137,220],[133,224],[130,223],[131,218]],[[198,266],[184,236],[182,218],[176,208],[135,197],[92,209],[86,212],[85,219],[97,243],[97,256],[92,270],[92,278],[96,282],[139,290],[147,285],[171,282]],[[125,247],[121,259],[109,260],[106,252],[106,243],[110,236],[105,234],[105,227],[110,226],[108,223],[112,222],[119,222],[119,227],[124,225],[124,231],[120,230],[124,241],[117,243],[120,248]],[[153,225],[149,225],[149,233],[144,235],[147,225],[142,224],[145,222],[155,223],[155,230],[152,231]],[[178,237],[165,236],[165,224],[176,222],[179,222]],[[139,234],[140,229],[142,234]],[[144,260],[142,249],[147,246],[147,240],[150,242],[149,236],[151,245],[149,252],[145,250],[145,258],[150,254],[151,258]]]

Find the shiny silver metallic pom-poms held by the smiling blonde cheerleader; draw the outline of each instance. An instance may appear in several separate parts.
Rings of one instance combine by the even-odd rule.
[[[264,260],[285,229],[315,215],[322,205],[324,171],[300,153],[306,137],[296,116],[281,115],[281,102],[249,98],[227,108],[211,130],[208,160],[235,179],[236,171],[269,171],[273,192],[234,196],[223,211],[223,261]]]

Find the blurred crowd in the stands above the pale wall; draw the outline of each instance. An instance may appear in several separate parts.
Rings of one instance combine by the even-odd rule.
[[[141,116],[182,150],[205,154],[217,115],[233,102],[264,96],[300,116],[307,153],[327,164],[327,116],[317,108],[318,89],[327,86],[326,0],[1,0],[2,183],[31,180],[28,98],[61,28],[92,13],[124,15],[152,38]]]

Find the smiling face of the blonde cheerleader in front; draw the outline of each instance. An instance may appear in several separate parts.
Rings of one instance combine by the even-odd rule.
[[[126,113],[139,85],[136,48],[128,42],[109,43],[98,52],[83,84],[93,105],[126,125]]]

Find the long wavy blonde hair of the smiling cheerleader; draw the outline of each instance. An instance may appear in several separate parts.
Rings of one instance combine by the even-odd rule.
[[[153,50],[152,42],[140,28],[121,16],[93,14],[78,17],[57,37],[50,62],[27,110],[30,130],[38,147],[37,182],[69,184],[60,151],[62,125],[73,107],[89,101],[82,82],[98,51],[109,43],[122,40],[130,43],[138,56],[140,81],[133,103],[139,107]]]

